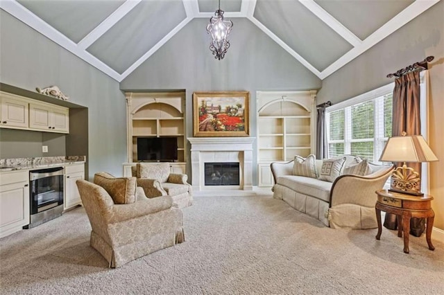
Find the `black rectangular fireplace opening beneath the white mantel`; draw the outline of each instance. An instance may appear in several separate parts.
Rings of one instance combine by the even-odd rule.
[[[205,163],[205,186],[239,186],[239,163]]]

